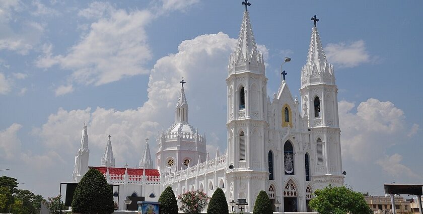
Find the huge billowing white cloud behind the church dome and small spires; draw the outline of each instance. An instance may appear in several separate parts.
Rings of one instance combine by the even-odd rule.
[[[174,122],[179,81],[185,77],[190,123],[198,126],[200,133],[207,132],[208,144],[214,145],[208,149],[216,150],[218,146],[226,148],[226,140],[222,140],[226,139],[226,134],[221,136],[219,133],[226,133],[223,131],[226,130],[226,114],[222,113],[226,111],[225,78],[228,55],[235,45],[236,39],[222,32],[185,40],[176,54],[157,60],[151,70],[148,100],[142,107],[124,111],[100,107],[94,111],[90,108],[71,111],[59,109],[33,133],[38,134],[49,148],[72,148],[76,151],[82,123],[89,121],[91,153],[101,154],[106,136],[111,134],[117,164],[124,161],[136,164],[140,158],[139,151],[144,149],[144,139],[155,138],[158,130],[167,129]],[[204,95],[210,92],[216,96],[207,97],[205,101]],[[151,141],[150,145],[154,156],[156,144]],[[215,152],[210,151],[210,154]]]

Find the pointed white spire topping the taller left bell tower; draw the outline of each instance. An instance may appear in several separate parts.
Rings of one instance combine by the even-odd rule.
[[[257,50],[248,11],[244,12],[237,48],[230,55],[228,70],[229,74],[249,70],[264,75],[263,54]]]

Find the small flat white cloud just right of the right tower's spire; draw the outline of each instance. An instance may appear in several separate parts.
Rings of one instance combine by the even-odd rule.
[[[329,62],[339,67],[355,67],[371,61],[371,56],[366,50],[366,44],[363,40],[349,44],[345,42],[330,43],[324,50]]]

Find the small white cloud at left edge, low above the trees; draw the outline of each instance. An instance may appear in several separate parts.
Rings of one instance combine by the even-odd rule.
[[[0,130],[0,160],[12,160],[20,153],[21,140],[18,138],[18,131],[21,124],[13,123],[4,130]]]

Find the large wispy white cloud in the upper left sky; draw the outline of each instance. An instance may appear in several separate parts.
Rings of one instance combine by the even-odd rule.
[[[148,74],[144,65],[151,59],[151,51],[145,26],[151,19],[147,10],[110,10],[107,18],[91,24],[89,32],[66,55],[52,56],[51,45],[45,45],[44,56],[38,58],[36,65],[48,68],[58,64],[73,70],[72,81],[96,86]]]

